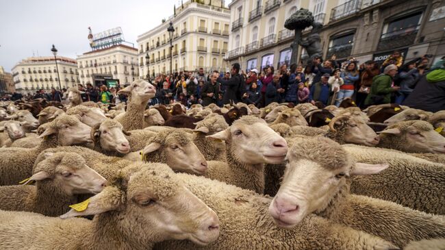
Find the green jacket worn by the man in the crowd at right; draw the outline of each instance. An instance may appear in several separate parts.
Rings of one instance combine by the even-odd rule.
[[[365,105],[373,105],[372,97],[377,95],[383,97],[383,101],[378,104],[390,103],[391,93],[396,91],[394,88],[391,88],[391,84],[392,77],[390,75],[380,74],[372,77],[371,90],[368,97],[366,97]]]

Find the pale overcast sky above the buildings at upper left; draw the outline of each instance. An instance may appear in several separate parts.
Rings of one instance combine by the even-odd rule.
[[[173,5],[180,3],[180,0],[0,0],[0,66],[10,72],[17,62],[33,53],[52,55],[52,44],[58,55],[76,58],[90,51],[88,27],[94,34],[120,26],[125,40],[137,47],[138,35],[173,15]]]

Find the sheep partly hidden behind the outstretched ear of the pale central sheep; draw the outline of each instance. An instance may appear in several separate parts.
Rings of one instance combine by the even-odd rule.
[[[225,161],[225,144],[206,138],[206,136],[221,132],[227,129],[227,127],[229,127],[229,125],[223,116],[220,115],[205,118],[203,121],[196,123],[196,128],[194,129],[196,134],[194,135],[193,142],[199,151],[203,153],[205,160]]]

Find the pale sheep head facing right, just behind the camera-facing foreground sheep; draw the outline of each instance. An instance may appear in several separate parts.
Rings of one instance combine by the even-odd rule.
[[[244,117],[244,116],[243,116]],[[246,116],[229,128],[208,136],[224,140],[231,153],[245,164],[279,164],[288,152],[288,144],[259,118]]]

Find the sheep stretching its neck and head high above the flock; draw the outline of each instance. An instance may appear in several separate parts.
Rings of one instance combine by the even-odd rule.
[[[144,128],[144,110],[150,98],[156,94],[156,88],[142,79],[137,79],[129,86],[118,91],[128,95],[127,111],[114,118],[123,125],[125,131]]]

